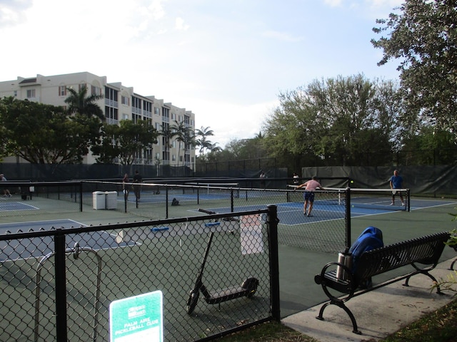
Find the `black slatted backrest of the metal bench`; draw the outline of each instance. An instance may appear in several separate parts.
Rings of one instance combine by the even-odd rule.
[[[436,266],[449,237],[448,232],[441,232],[372,249],[358,259],[354,275],[356,279],[368,279],[411,263]]]

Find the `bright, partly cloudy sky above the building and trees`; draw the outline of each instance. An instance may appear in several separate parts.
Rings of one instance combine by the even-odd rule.
[[[0,81],[87,71],[191,110],[211,142],[254,138],[278,95],[378,66],[403,0],[0,0]]]

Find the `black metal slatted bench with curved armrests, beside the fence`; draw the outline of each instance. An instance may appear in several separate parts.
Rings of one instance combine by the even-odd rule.
[[[321,274],[317,274],[314,277],[314,281],[322,286],[330,301],[321,306],[319,315],[316,318],[323,321],[323,311],[327,306],[334,304],[346,311],[346,314],[351,318],[353,333],[360,334],[356,318],[346,306],[346,302],[355,296],[366,294],[368,291],[379,289],[382,286],[387,286],[403,279],[406,279],[403,286],[408,286],[409,279],[416,274],[424,274],[433,281],[433,284],[437,284],[435,277],[429,272],[438,264],[441,253],[446,246],[445,242],[448,241],[449,237],[450,234],[448,232],[441,232],[372,249],[361,254],[354,272],[348,266],[338,262],[326,264],[326,266],[323,266]],[[372,276],[407,265],[413,266],[413,270],[408,274],[398,276],[376,286],[363,288],[367,281],[371,280]],[[337,267],[342,267],[344,272],[341,272],[341,269],[338,272]],[[344,274],[346,279],[341,279],[343,278],[341,274]],[[338,292],[339,297],[333,296],[332,292],[334,291],[329,289]],[[436,293],[441,294],[441,289],[438,285],[436,285]]]

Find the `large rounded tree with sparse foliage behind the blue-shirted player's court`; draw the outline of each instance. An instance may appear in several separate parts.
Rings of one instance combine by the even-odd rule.
[[[274,157],[321,165],[361,165],[366,156],[390,152],[401,102],[391,81],[363,75],[312,81],[279,96],[266,120],[265,142]],[[382,162],[383,160],[381,160]],[[379,163],[379,160],[367,161]]]

